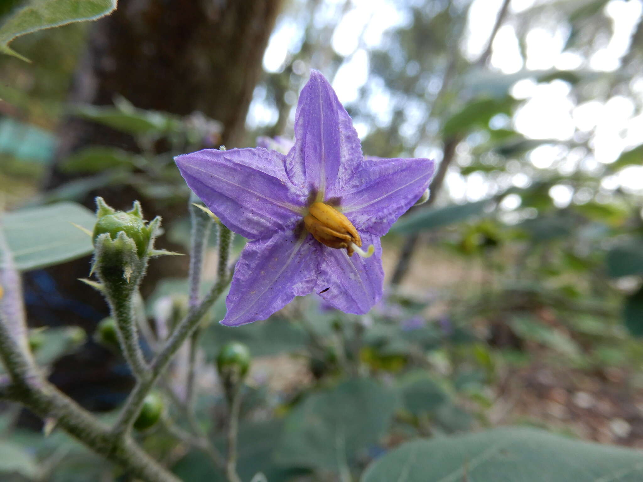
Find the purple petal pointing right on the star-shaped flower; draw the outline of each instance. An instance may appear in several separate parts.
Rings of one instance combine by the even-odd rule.
[[[383,236],[426,191],[435,163],[429,159],[366,159],[341,196],[341,211],[358,230]]]

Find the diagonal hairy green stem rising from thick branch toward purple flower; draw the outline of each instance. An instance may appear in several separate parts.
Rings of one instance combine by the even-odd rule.
[[[213,285],[210,292],[199,303],[199,305],[190,310],[188,315],[179,323],[172,335],[165,341],[161,351],[154,357],[150,364],[150,377],[145,380],[139,380],[134,386],[134,389],[129,394],[125,402],[125,406],[116,420],[113,427],[113,433],[117,436],[123,436],[131,430],[132,424],[138,416],[143,406],[145,395],[154,387],[156,381],[159,379],[165,368],[176,352],[181,348],[185,340],[194,332],[201,318],[212,307],[215,301],[221,296],[221,293],[226,289],[230,283],[231,276],[228,272],[228,258],[230,257],[230,240],[232,238],[231,231],[225,226],[220,226],[219,236],[219,267],[225,266],[224,276],[220,276]],[[221,269],[219,270],[221,272]]]

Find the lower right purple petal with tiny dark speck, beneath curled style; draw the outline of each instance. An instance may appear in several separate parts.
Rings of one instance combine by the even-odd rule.
[[[362,247],[374,245],[375,254],[362,258],[356,253],[349,256],[345,249],[321,246],[320,275],[315,291],[332,307],[363,315],[382,297],[384,270],[379,237],[369,233],[359,235]],[[326,291],[321,293],[322,290]]]

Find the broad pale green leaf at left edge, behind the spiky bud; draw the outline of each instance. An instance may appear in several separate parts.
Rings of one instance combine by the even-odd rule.
[[[72,223],[91,231],[95,222],[94,213],[80,204],[59,202],[7,213],[3,224],[16,267],[28,271],[91,253],[91,237]]]

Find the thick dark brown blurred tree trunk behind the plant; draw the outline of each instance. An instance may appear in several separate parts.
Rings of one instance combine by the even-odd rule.
[[[281,0],[120,0],[113,15],[90,26],[87,51],[78,64],[69,102],[111,105],[120,94],[142,109],[181,115],[201,111],[221,121],[222,143],[239,145],[280,4]],[[86,145],[134,148],[126,134],[69,116],[60,127],[57,162],[46,189],[73,179],[60,172],[58,165]],[[95,195],[104,196],[119,209],[140,199],[147,219],[160,214],[169,220],[186,212],[185,206],[159,212],[154,202],[145,202],[139,193],[123,186],[100,188],[82,202],[93,209]],[[159,240],[158,245],[173,248],[166,240]],[[181,276],[185,267],[183,257],[152,260],[143,289],[149,292],[154,281],[168,272]],[[107,311],[104,301],[76,279],[87,277],[89,258],[48,273],[61,299],[83,299],[95,310]],[[69,314],[68,303],[36,305],[40,316],[34,318],[43,324],[73,323],[91,332],[95,323],[87,316]]]

